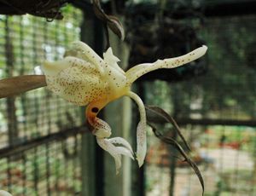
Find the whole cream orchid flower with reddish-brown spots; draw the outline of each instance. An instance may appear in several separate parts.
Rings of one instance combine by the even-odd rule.
[[[71,49],[67,50],[64,59],[45,62],[42,68],[50,90],[78,106],[87,105],[86,117],[93,127],[92,133],[96,135],[99,146],[113,156],[118,173],[121,155],[131,159],[136,157],[139,166],[142,166],[147,152],[145,107],[140,97],[131,92],[131,84],[147,72],[159,68],[183,66],[185,63],[195,61],[205,55],[206,51],[207,46],[202,46],[187,55],[140,64],[124,72],[118,66],[119,59],[113,55],[111,48],[103,54],[102,59],[87,44],[75,42]],[[102,119],[97,118],[98,112],[110,101],[124,95],[131,97],[137,103],[140,112],[136,156],[125,139],[121,137],[108,139],[111,128]]]

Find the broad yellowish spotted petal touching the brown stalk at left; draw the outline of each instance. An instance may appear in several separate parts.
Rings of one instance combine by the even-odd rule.
[[[42,69],[48,89],[76,105],[84,106],[108,95],[108,84],[88,61],[67,56],[61,61],[45,62]]]

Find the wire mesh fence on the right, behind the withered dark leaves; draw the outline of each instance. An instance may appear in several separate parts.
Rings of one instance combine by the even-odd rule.
[[[145,84],[146,103],[165,108],[182,125],[204,176],[205,195],[256,195],[255,20],[255,15],[205,19],[198,33],[209,48],[207,74]],[[193,170],[174,158],[171,147],[149,138],[147,195],[200,195]]]

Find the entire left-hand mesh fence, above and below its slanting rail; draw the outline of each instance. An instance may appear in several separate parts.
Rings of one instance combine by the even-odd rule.
[[[0,78],[40,73],[80,37],[83,14],[67,6],[63,20],[0,16]],[[13,195],[81,191],[81,108],[46,89],[0,100],[0,189]]]

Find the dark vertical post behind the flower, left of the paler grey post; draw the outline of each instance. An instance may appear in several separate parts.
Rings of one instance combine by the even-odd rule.
[[[86,8],[85,8],[86,9]],[[84,10],[81,25],[81,40],[88,43],[98,54],[102,54],[102,26],[90,9]],[[84,116],[84,108],[83,114]],[[84,118],[85,121],[85,118]],[[96,145],[94,135],[83,134],[81,141],[82,196],[103,196],[104,172],[102,149]]]

